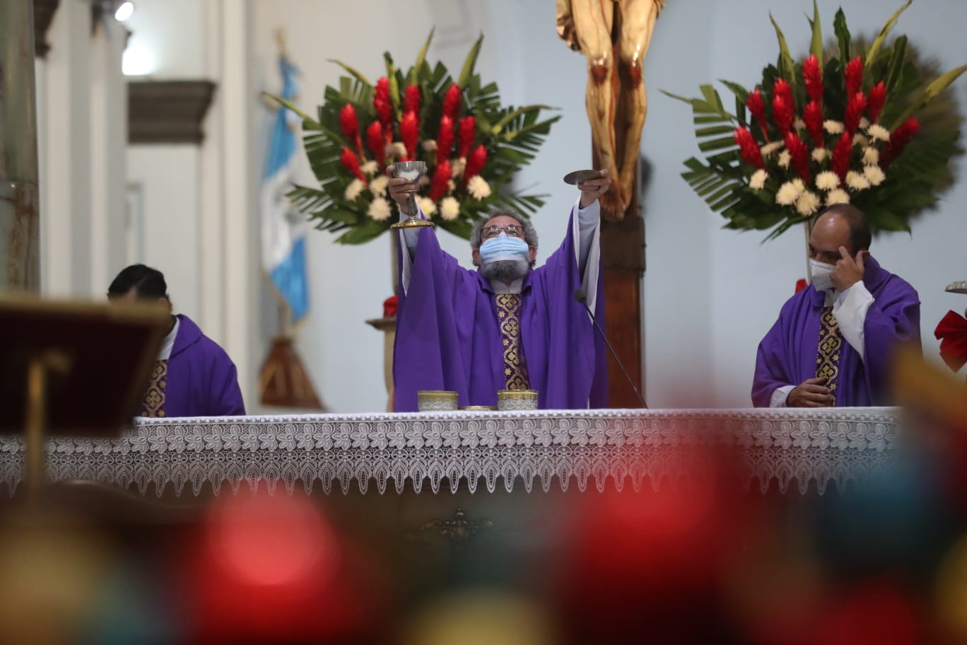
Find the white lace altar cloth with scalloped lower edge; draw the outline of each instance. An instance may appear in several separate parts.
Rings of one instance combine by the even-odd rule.
[[[292,492],[355,484],[380,493],[390,480],[437,493],[483,482],[531,491],[610,480],[638,489],[676,477],[681,455],[696,446],[738,449],[747,482],[765,491],[795,480],[805,493],[859,481],[894,458],[895,408],[738,410],[567,410],[432,412],[277,417],[138,419],[117,439],[53,438],[51,481],[87,480],[194,495],[248,482]],[[23,477],[23,442],[0,437],[0,484],[11,494]],[[154,484],[153,486],[151,484]]]

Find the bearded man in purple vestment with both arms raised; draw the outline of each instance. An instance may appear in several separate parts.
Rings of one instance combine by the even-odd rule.
[[[403,219],[417,187],[387,172]],[[537,390],[542,409],[607,404],[606,348],[575,292],[603,326],[598,197],[610,183],[605,172],[578,185],[564,242],[539,268],[537,232],[513,210],[474,226],[476,270],[440,249],[433,228],[399,232],[397,412],[417,410],[419,390],[458,392],[461,406],[496,405],[498,390]]]

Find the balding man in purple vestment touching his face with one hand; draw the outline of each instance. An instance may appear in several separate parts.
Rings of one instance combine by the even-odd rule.
[[[790,298],[759,344],[756,407],[889,405],[897,343],[920,349],[920,298],[869,254],[863,212],[835,204],[809,237],[812,285]]]

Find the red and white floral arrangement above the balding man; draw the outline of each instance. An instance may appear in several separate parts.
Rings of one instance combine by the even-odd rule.
[[[850,202],[878,230],[910,230],[909,220],[937,200],[960,132],[922,124],[917,115],[967,66],[924,82],[905,36],[886,40],[907,2],[868,47],[851,43],[835,15],[837,51],[826,57],[813,2],[810,54],[794,62],[775,19],[777,65],[752,91],[722,81],[735,95],[732,114],[712,85],[688,99],[704,161],[682,176],[726,228],[773,229],[767,239],[810,220],[824,206]],[[824,58],[826,60],[824,61]]]

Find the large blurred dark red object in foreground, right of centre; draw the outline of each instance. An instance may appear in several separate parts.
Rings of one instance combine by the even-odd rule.
[[[689,458],[684,481],[583,498],[557,589],[569,642],[730,642],[725,578],[763,498],[739,489],[730,459]]]

